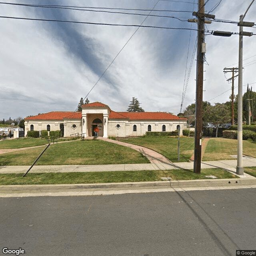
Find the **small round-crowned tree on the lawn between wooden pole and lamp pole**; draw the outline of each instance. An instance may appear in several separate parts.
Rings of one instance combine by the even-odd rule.
[[[207,106],[203,112],[203,118],[206,122],[216,126],[216,138],[218,137],[218,128],[220,124],[230,122],[231,116],[228,107],[224,103],[216,103],[215,106]]]

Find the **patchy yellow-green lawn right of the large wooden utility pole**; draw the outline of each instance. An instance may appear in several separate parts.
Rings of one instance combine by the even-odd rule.
[[[237,154],[237,140],[225,138],[210,138],[208,141],[203,161],[229,160],[230,155]],[[243,140],[243,154],[256,157],[256,142]]]

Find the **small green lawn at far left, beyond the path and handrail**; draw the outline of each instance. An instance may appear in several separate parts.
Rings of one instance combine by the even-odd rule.
[[[46,139],[41,138],[18,138],[14,140],[1,140],[0,149],[27,148],[47,144]]]

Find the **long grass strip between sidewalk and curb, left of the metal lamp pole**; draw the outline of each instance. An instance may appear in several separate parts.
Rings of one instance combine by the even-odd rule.
[[[88,184],[110,182],[145,182],[160,181],[161,177],[170,177],[172,180],[199,180],[210,179],[206,175],[217,178],[238,178],[225,170],[212,168],[202,169],[201,174],[193,170],[144,170],[144,171],[118,171],[118,172],[48,172],[23,174],[0,174],[0,185],[25,184]]]

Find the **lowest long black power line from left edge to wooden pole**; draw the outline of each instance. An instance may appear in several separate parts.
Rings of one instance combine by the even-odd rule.
[[[96,22],[81,22],[72,20],[47,20],[47,19],[36,19],[36,18],[22,18],[22,17],[11,17],[11,16],[0,16],[0,18],[16,19],[16,20],[39,20],[39,21],[50,21],[50,22],[68,22],[78,24],[92,24],[92,25],[106,25],[106,26],[125,26],[125,27],[142,27],[142,28],[165,28],[165,29],[176,29],[176,30],[194,30],[193,28],[171,28],[171,27],[160,27],[160,26],[142,26],[142,25],[128,25],[128,24],[110,24],[110,23],[96,23]]]

